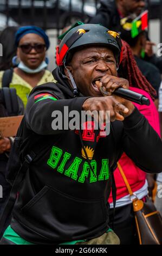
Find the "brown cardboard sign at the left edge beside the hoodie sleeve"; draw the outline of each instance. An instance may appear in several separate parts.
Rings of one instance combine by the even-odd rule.
[[[23,115],[16,117],[1,117],[0,118],[0,137],[16,136],[18,126],[20,126]]]

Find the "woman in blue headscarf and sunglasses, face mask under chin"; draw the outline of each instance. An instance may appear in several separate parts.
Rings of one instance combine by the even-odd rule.
[[[8,44],[8,42],[6,42]],[[17,95],[21,97],[24,106],[33,87],[54,82],[48,71],[46,51],[49,48],[49,39],[43,29],[36,26],[24,26],[15,34],[17,56],[12,59],[16,68],[10,71],[11,79],[7,86],[16,88]],[[0,72],[0,87],[3,87],[4,71]],[[6,85],[5,85],[6,86]]]

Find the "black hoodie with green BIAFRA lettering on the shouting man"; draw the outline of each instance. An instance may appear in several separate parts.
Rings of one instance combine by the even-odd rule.
[[[16,233],[40,244],[92,239],[105,233],[112,172],[123,151],[146,172],[161,172],[162,166],[161,139],[137,108],[123,122],[114,121],[106,137],[100,137],[99,130],[82,131],[82,139],[75,130],[54,131],[51,113],[63,113],[64,106],[81,113],[87,97],[74,98],[57,68],[53,74],[56,84],[35,87],[29,96],[25,118],[28,133],[35,135],[31,148],[34,144],[41,148],[49,138],[50,142],[25,175],[11,221]],[[44,100],[40,94],[50,96]],[[89,149],[88,156],[93,156],[94,173],[82,156],[81,141]]]

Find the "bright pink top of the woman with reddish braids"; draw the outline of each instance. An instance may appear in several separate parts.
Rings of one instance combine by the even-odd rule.
[[[150,125],[160,136],[159,115],[150,95],[144,90],[141,90],[138,88],[129,87],[129,89],[132,90],[133,92],[145,95],[148,99],[150,99],[150,106],[139,105],[137,103],[134,103],[134,105],[139,109],[140,113],[147,118]],[[143,172],[137,166],[135,166],[134,162],[131,159],[129,159],[129,157],[125,153],[122,154],[119,162],[122,169],[124,170],[126,178],[128,179],[128,182],[132,188],[132,191],[133,192],[138,191],[145,184],[146,173]],[[114,178],[115,178],[115,183],[117,188],[116,199],[118,200],[122,197],[127,196],[128,191],[118,168],[115,169]],[[113,202],[112,194],[109,196],[108,202],[109,203]]]

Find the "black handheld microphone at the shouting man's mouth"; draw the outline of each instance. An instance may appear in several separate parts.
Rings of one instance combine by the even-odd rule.
[[[120,96],[126,100],[130,100],[135,103],[138,103],[140,105],[147,105],[147,106],[150,105],[150,100],[147,99],[147,97],[145,97],[142,94],[132,92],[131,90],[127,90],[124,88],[118,88],[113,92],[113,94],[116,96]]]

